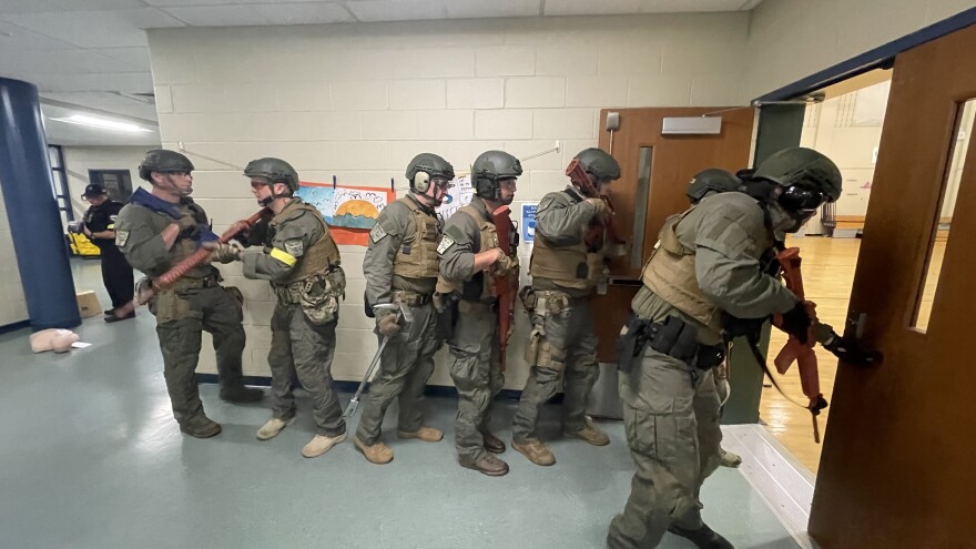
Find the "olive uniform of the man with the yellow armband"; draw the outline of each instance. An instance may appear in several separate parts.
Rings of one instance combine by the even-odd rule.
[[[318,435],[336,437],[346,431],[331,372],[346,288],[338,247],[318,210],[297,197],[271,220],[264,244],[265,253],[244,254],[243,262],[244,276],[270,281],[277,299],[267,355],[272,414],[295,416],[297,375],[312,397]]]

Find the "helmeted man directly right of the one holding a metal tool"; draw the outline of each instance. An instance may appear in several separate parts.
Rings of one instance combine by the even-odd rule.
[[[491,399],[505,383],[494,286],[496,278],[518,284],[516,246],[510,255],[501,251],[492,213],[511,203],[521,173],[521,163],[511,154],[481,153],[471,166],[475,197],[447,220],[437,246],[437,292],[446,302],[439,308],[456,312],[447,343],[454,357],[450,377],[458,392],[458,460],[462,467],[489,476],[508,472],[508,464],[491,455],[505,451],[505,444],[488,428]],[[515,228],[510,226],[509,233],[516,234]]]

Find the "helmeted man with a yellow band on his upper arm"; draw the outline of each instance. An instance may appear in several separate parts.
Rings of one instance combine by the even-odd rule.
[[[244,276],[271,282],[277,305],[271,318],[272,418],[257,430],[258,440],[274,438],[295,420],[292,378],[312,397],[317,434],[302,448],[307,458],[322,456],[346,439],[346,423],[332,388],[339,299],[346,277],[339,250],[322,213],[302,199],[298,174],[278,159],[258,159],[244,167],[257,203],[274,216],[261,253],[242,253],[228,244],[212,245],[222,263],[241,260]]]

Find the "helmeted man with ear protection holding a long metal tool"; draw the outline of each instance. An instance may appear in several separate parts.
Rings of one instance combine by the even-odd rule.
[[[395,304],[408,307],[413,321],[401,331],[398,314],[376,315],[376,333],[389,338],[379,362],[379,375],[369,386],[354,441],[374,464],[388,464],[393,451],[380,440],[386,408],[397,399],[397,436],[436,443],[444,433],[423,426],[424,387],[434,373],[437,315],[431,304],[439,257],[443,221],[436,212],[454,179],[454,166],[443,157],[421,153],[407,165],[410,193],[379,214],[363,260],[367,306]]]

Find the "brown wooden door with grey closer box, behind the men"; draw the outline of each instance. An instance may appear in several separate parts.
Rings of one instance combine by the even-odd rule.
[[[734,173],[749,165],[755,118],[752,108],[604,109],[600,128],[607,128],[611,112],[618,113],[620,129],[601,132],[600,149],[620,163],[620,180],[611,186],[617,209],[613,225],[631,248],[628,256],[611,265],[607,295],[593,297],[593,314],[600,319],[597,336],[601,363],[617,362],[613,345],[640,287],[641,267],[650,257],[664,220],[688,209],[685,192],[695,173],[708,167]],[[663,131],[665,118],[685,118],[687,125],[694,125],[706,114],[721,119],[719,133]]]

